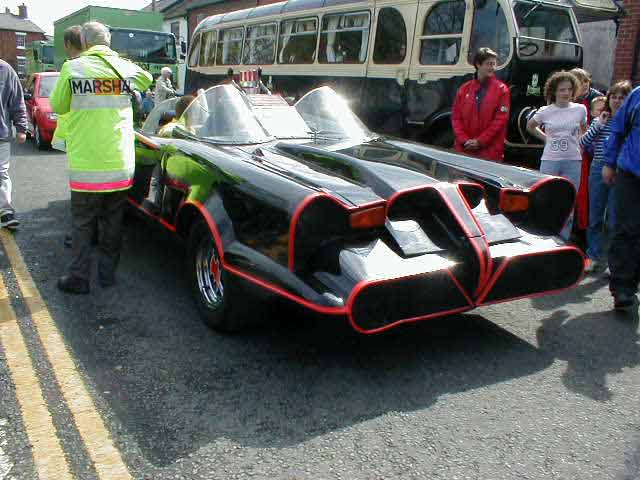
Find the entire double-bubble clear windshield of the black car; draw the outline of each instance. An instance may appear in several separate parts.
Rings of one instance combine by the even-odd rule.
[[[291,107],[256,106],[232,85],[198,95],[178,121],[177,130],[206,142],[246,145],[277,139],[342,140],[372,137],[347,103],[328,87],[312,90]]]

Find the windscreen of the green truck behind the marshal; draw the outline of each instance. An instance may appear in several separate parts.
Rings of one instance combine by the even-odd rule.
[[[111,30],[111,48],[134,62],[176,63],[173,35],[136,30]]]

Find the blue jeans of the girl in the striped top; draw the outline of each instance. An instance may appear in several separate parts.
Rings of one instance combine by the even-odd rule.
[[[615,226],[615,210],[613,186],[602,181],[604,162],[593,161],[589,170],[589,228],[587,229],[587,256],[591,260],[600,261],[602,256],[602,229],[605,212],[607,229],[613,233]]]

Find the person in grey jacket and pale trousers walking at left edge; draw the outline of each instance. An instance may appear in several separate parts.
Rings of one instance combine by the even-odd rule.
[[[27,108],[22,86],[11,65],[0,60],[0,227],[16,229],[20,222],[11,205],[9,178],[12,127],[16,129],[16,143],[24,143],[27,139]]]

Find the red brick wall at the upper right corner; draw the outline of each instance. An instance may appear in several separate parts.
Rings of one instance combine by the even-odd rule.
[[[624,0],[626,16],[620,20],[613,80],[640,83],[640,0]]]

